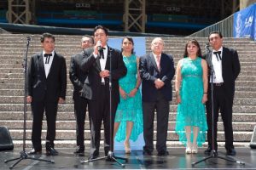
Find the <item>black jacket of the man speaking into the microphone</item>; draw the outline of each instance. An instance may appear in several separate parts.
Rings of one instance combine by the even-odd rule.
[[[88,72],[88,77],[86,77],[84,82],[83,95],[86,99],[101,99],[100,90],[98,90],[102,84],[100,72],[108,70],[112,77],[112,102],[117,104],[119,103],[119,78],[124,77],[127,72],[123,56],[119,50],[108,47],[106,66],[105,69],[101,69],[100,59],[94,57],[93,50],[94,48],[85,49],[84,59],[81,62],[82,70]],[[104,78],[104,80],[109,88],[109,77]]]

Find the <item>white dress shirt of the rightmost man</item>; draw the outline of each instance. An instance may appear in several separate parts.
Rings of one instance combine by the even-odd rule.
[[[214,75],[213,75],[213,82],[214,83],[219,83],[219,82],[224,82],[223,77],[222,77],[222,59],[223,59],[223,48],[219,48],[218,51],[221,51],[220,57],[221,59],[217,59],[216,54],[213,54],[213,52],[217,52],[216,50],[212,50],[212,65],[213,65],[213,70],[214,70]],[[210,80],[212,82],[212,80]]]

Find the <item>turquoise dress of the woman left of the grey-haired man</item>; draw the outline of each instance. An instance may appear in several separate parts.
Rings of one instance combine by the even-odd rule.
[[[130,57],[123,56],[123,60],[127,68],[127,74],[119,79],[119,86],[128,94],[137,84],[137,56],[134,54],[131,54]],[[142,96],[139,89],[132,98],[126,97],[126,99],[123,99],[120,96],[114,120],[114,122],[120,122],[115,136],[117,141],[125,140],[127,121],[133,122],[130,139],[136,141],[138,135],[143,132]]]

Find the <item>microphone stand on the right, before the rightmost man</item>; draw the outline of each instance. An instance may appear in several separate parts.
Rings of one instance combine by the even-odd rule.
[[[207,51],[207,54],[209,54],[211,52],[211,50],[209,49],[209,43],[207,43],[207,45],[205,46],[206,48],[206,51]],[[207,58],[207,56],[206,56]],[[215,75],[215,72],[214,72],[214,69],[213,69],[213,65],[212,65],[212,59],[211,59],[211,62],[208,62],[209,60],[207,59],[207,63],[210,67],[210,70],[211,70],[211,77],[210,77],[210,81],[211,82],[211,104],[212,104],[212,151],[211,151],[211,154],[210,156],[207,156],[205,158],[203,158],[201,161],[207,161],[208,159],[211,159],[211,158],[220,158],[220,159],[223,159],[225,161],[232,161],[232,162],[235,162],[235,163],[238,163],[238,164],[241,164],[241,165],[245,165],[245,162],[243,161],[236,161],[234,158],[233,159],[230,159],[228,157],[224,157],[224,156],[218,156],[218,152],[217,150],[215,150],[215,147],[214,147],[214,139],[217,138],[217,136],[215,137],[214,136],[214,126],[213,126],[213,120],[214,120],[214,108],[213,108],[213,75]],[[195,161],[195,162],[192,162],[192,167],[194,167],[196,164],[200,163],[201,161]]]

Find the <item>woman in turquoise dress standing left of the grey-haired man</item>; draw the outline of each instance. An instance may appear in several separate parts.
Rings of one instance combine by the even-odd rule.
[[[117,141],[125,141],[125,153],[131,153],[130,139],[137,140],[143,132],[142,97],[139,90],[141,78],[138,74],[139,59],[133,52],[131,37],[124,37],[122,54],[127,74],[119,79],[120,102],[116,111],[113,136]]]

